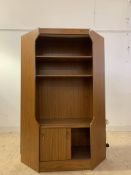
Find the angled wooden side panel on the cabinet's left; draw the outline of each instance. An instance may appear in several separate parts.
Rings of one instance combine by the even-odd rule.
[[[39,126],[35,119],[35,40],[37,31],[22,36],[21,161],[39,171]]]

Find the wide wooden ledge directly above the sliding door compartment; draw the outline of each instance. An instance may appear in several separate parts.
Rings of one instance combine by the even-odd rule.
[[[42,119],[39,122],[42,128],[89,128],[91,119]]]

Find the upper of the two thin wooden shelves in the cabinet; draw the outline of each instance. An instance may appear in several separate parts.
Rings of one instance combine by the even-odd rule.
[[[92,59],[91,55],[88,56],[75,56],[75,55],[37,55],[36,60],[38,61],[88,61]]]

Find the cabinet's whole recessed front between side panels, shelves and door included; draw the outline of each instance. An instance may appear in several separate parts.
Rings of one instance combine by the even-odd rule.
[[[36,78],[40,160],[90,159],[91,39],[75,35],[39,37]]]

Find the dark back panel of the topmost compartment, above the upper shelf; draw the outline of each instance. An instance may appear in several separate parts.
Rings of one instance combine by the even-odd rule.
[[[36,42],[36,54],[51,55],[91,55],[90,38],[39,37]]]

